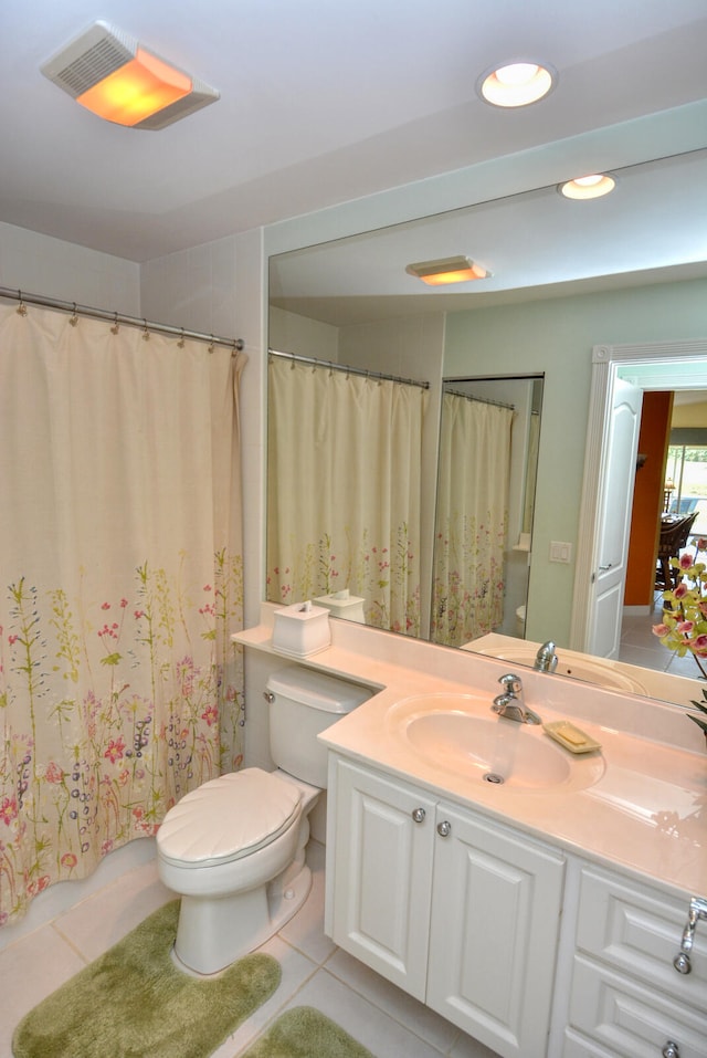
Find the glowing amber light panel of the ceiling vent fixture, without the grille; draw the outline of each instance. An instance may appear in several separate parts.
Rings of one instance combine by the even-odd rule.
[[[107,122],[131,126],[191,90],[191,77],[138,48],[135,59],[77,96],[76,102]]]

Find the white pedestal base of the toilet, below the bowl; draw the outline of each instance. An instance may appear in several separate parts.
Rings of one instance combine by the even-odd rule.
[[[202,900],[182,897],[176,965],[194,977],[212,977],[255,951],[299,911],[312,889],[312,871],[304,865],[249,892]]]

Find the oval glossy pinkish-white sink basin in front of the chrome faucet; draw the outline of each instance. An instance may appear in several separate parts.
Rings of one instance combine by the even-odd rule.
[[[604,771],[601,754],[571,754],[551,742],[542,727],[490,713],[490,701],[481,695],[409,698],[390,710],[388,725],[420,760],[494,785],[583,789]]]

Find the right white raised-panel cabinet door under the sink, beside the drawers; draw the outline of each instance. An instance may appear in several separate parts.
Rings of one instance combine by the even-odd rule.
[[[437,823],[428,1004],[504,1058],[545,1055],[563,858],[444,805]]]

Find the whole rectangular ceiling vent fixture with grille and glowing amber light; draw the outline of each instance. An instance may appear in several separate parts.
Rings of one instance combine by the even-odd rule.
[[[214,88],[106,22],[95,22],[41,70],[98,117],[131,128],[165,128],[219,98]]]

